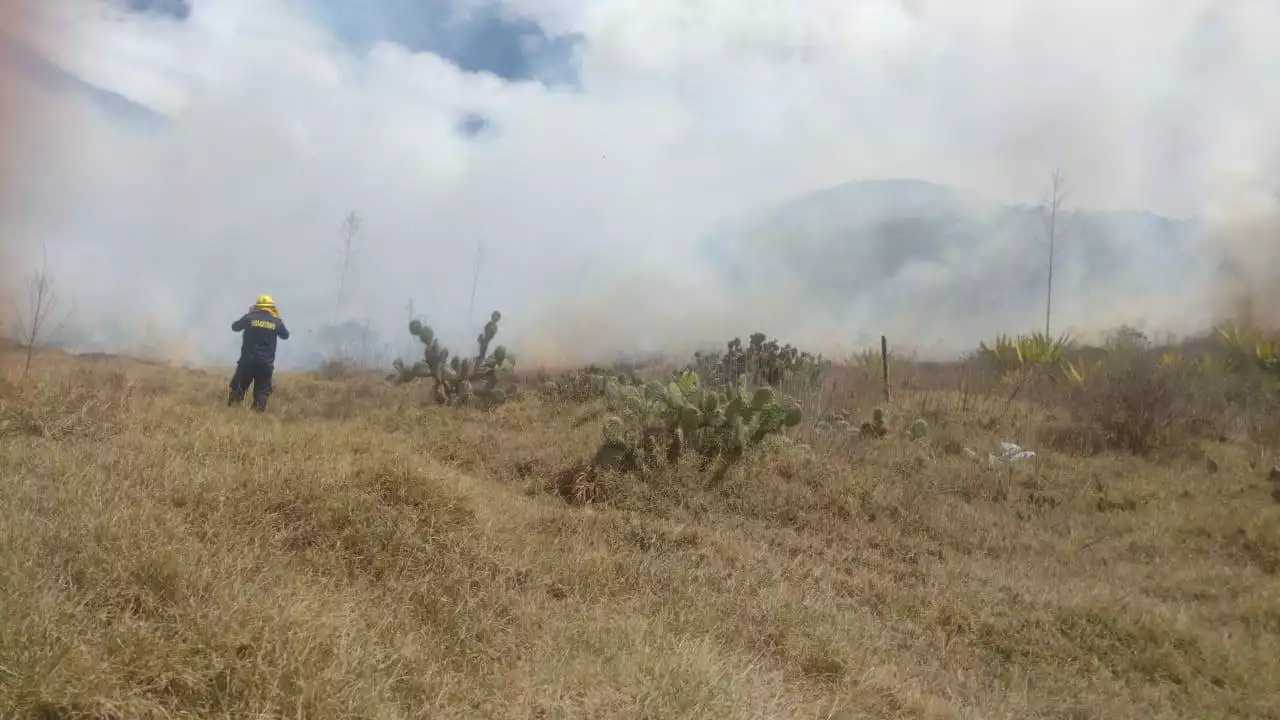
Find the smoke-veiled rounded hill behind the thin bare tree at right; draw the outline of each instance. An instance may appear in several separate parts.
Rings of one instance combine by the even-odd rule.
[[[1074,211],[1060,233],[1055,318],[1093,324],[1185,295],[1193,220]],[[920,181],[855,182],[726,227],[705,250],[744,293],[929,342],[1042,327],[1048,246],[1037,208]],[[1157,320],[1158,322],[1158,320]]]

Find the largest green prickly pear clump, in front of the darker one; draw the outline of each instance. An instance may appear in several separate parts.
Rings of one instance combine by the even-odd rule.
[[[803,419],[800,405],[771,387],[750,392],[744,382],[721,393],[689,370],[667,386],[609,380],[605,402],[614,414],[604,420],[595,462],[621,471],[646,473],[691,452],[701,470],[718,462],[719,478],[749,447]]]

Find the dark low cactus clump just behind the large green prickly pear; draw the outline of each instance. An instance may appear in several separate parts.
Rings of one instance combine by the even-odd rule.
[[[728,341],[724,352],[694,354],[690,369],[716,383],[780,387],[788,382],[818,382],[831,361],[822,355],[791,345],[778,345],[764,333],[753,333],[744,346],[741,338]]]

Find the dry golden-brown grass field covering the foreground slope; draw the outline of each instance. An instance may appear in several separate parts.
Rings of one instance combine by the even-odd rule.
[[[283,374],[256,415],[225,379],[0,380],[0,716],[1280,717],[1257,448],[993,473],[963,448],[1053,420],[922,389],[893,409],[928,443],[581,506],[573,409]]]

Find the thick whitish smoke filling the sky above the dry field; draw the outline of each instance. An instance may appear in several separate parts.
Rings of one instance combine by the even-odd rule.
[[[410,301],[454,347],[502,310],[526,363],[755,331],[828,352],[881,332],[964,347],[1041,325],[1038,229],[959,246],[936,224],[927,251],[893,232],[851,250],[837,220],[865,196],[822,191],[918,178],[1036,205],[1059,165],[1074,210],[1196,231],[1065,236],[1055,325],[1158,331],[1242,297],[1274,313],[1275,3],[457,0],[433,5],[452,19],[433,15],[422,46],[349,42],[333,0],[129,5],[10,0],[0,31],[3,266],[47,247],[79,348],[225,364],[261,292],[294,331],[285,366],[343,320],[408,351]],[[361,32],[412,22],[392,5],[358,4]],[[462,63],[461,40],[431,41],[477,5],[573,50],[476,72],[484,46]]]

